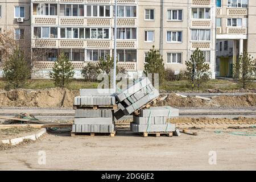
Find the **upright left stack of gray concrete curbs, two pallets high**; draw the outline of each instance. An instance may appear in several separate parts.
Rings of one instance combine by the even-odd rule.
[[[114,105],[111,89],[80,89],[80,96],[74,101],[72,133],[114,133]]]

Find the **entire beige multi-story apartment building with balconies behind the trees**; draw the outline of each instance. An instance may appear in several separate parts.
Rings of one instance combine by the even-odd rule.
[[[114,2],[0,0],[0,28],[13,28],[17,38],[29,35],[26,40],[31,40],[32,57],[37,57],[32,77],[48,78],[63,51],[73,61],[75,77],[80,78],[87,63],[113,55]],[[255,54],[256,27],[250,23],[255,6],[256,2],[247,0],[118,0],[118,65],[130,74],[142,73],[145,56],[155,46],[166,68],[179,72],[200,48],[212,78],[220,76],[221,62],[226,59],[221,55],[216,59],[216,40],[217,44],[229,40],[229,45],[236,45],[231,47],[236,49],[233,62],[237,45],[240,52],[247,49]]]

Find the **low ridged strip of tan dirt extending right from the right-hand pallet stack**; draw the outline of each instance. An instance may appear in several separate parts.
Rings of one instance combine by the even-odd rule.
[[[228,118],[173,118],[170,119],[171,123],[251,123],[255,122],[255,118],[243,118],[239,117],[237,119],[228,119]]]

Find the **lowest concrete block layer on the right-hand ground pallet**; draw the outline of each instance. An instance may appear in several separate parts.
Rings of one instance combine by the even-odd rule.
[[[143,132],[171,132],[175,131],[174,124],[165,125],[137,125],[136,123],[131,123],[131,131],[137,133]]]

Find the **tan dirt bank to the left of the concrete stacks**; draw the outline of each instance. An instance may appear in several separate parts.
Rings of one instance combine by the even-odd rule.
[[[0,93],[0,107],[72,107],[79,91],[65,88],[17,89]]]

